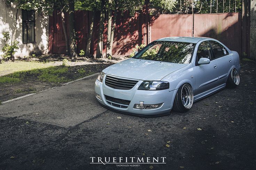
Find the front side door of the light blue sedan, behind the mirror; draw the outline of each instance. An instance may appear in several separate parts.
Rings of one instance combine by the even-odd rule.
[[[199,65],[200,58],[209,58],[209,64]],[[212,51],[208,41],[201,42],[197,49],[197,58],[195,61],[195,94],[194,96],[206,92],[217,86],[218,74],[216,72],[216,60],[212,60]]]

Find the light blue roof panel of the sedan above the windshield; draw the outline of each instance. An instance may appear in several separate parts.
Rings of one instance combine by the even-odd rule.
[[[165,37],[165,38],[158,39],[156,41],[175,41],[175,42],[198,43],[200,40],[204,40],[204,39],[209,39],[209,38],[176,36],[176,37]]]

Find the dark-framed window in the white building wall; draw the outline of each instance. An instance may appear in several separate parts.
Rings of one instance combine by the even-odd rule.
[[[22,42],[35,42],[35,11],[22,10]]]

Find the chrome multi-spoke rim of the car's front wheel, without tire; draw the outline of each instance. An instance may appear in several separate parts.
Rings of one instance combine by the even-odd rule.
[[[190,109],[193,104],[193,91],[189,84],[184,84],[181,90],[181,101],[186,109]]]

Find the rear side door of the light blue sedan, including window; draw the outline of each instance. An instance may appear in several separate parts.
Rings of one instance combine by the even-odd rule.
[[[233,66],[233,58],[223,45],[216,41],[209,41],[212,49],[212,61],[216,63],[218,74],[218,85],[226,83],[230,68]]]

